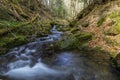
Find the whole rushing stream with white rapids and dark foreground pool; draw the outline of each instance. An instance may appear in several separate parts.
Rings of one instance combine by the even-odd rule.
[[[10,49],[0,57],[0,80],[120,80],[109,67],[98,65],[77,51],[54,52],[63,32]]]

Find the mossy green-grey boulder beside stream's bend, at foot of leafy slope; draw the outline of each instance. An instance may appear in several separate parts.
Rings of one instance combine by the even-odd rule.
[[[76,34],[67,34],[63,40],[59,41],[57,45],[60,49],[79,49],[87,46],[88,41],[92,39],[92,35],[87,32],[77,32]]]

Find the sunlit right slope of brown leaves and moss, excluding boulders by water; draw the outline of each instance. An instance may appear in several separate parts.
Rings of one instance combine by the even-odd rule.
[[[90,7],[90,6],[89,6]],[[94,7],[94,8],[93,8]],[[89,10],[87,10],[89,11]],[[93,35],[89,41],[90,47],[100,47],[115,56],[120,52],[120,1],[92,6],[91,11],[84,16],[81,12],[75,20],[74,27]],[[73,21],[73,22],[75,22]]]

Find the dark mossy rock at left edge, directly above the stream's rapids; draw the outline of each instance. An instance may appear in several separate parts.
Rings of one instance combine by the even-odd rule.
[[[25,36],[13,37],[8,35],[7,37],[0,39],[0,54],[6,53],[9,48],[27,43],[28,40]]]

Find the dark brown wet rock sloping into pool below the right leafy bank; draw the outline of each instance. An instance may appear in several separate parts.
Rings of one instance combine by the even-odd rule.
[[[101,64],[101,65],[109,65],[110,63],[110,54],[100,48],[90,48],[84,47],[81,48],[82,55],[88,57],[90,60]]]

